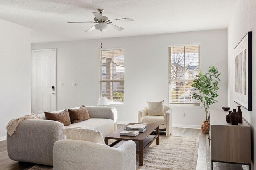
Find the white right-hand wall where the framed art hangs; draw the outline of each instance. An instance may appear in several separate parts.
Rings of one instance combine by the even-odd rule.
[[[248,31],[252,31],[252,111],[242,108],[244,119],[252,126],[252,146],[254,145],[254,160],[256,159],[256,1],[239,0],[232,20],[228,25],[228,105],[237,109],[234,102],[233,84],[234,84],[234,48]],[[253,162],[254,162],[253,160]],[[256,166],[254,165],[254,169]]]

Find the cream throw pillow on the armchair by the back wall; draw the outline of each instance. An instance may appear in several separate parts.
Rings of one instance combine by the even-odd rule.
[[[163,116],[164,115],[164,100],[160,102],[147,102],[148,115],[150,116]]]

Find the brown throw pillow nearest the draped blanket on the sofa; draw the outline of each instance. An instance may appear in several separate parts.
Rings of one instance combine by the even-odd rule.
[[[59,121],[63,123],[64,126],[68,126],[71,124],[67,109],[59,113],[51,113],[45,111],[44,115],[46,120]]]

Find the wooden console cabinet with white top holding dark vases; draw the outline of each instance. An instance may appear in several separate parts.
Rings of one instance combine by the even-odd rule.
[[[251,127],[226,122],[227,111],[210,110],[211,165],[213,162],[249,165],[251,170]]]

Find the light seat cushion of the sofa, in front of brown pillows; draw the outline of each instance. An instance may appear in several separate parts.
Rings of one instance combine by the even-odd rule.
[[[114,121],[111,119],[92,118],[71,124],[68,127],[82,127],[84,129],[95,129],[105,137],[114,131]]]

